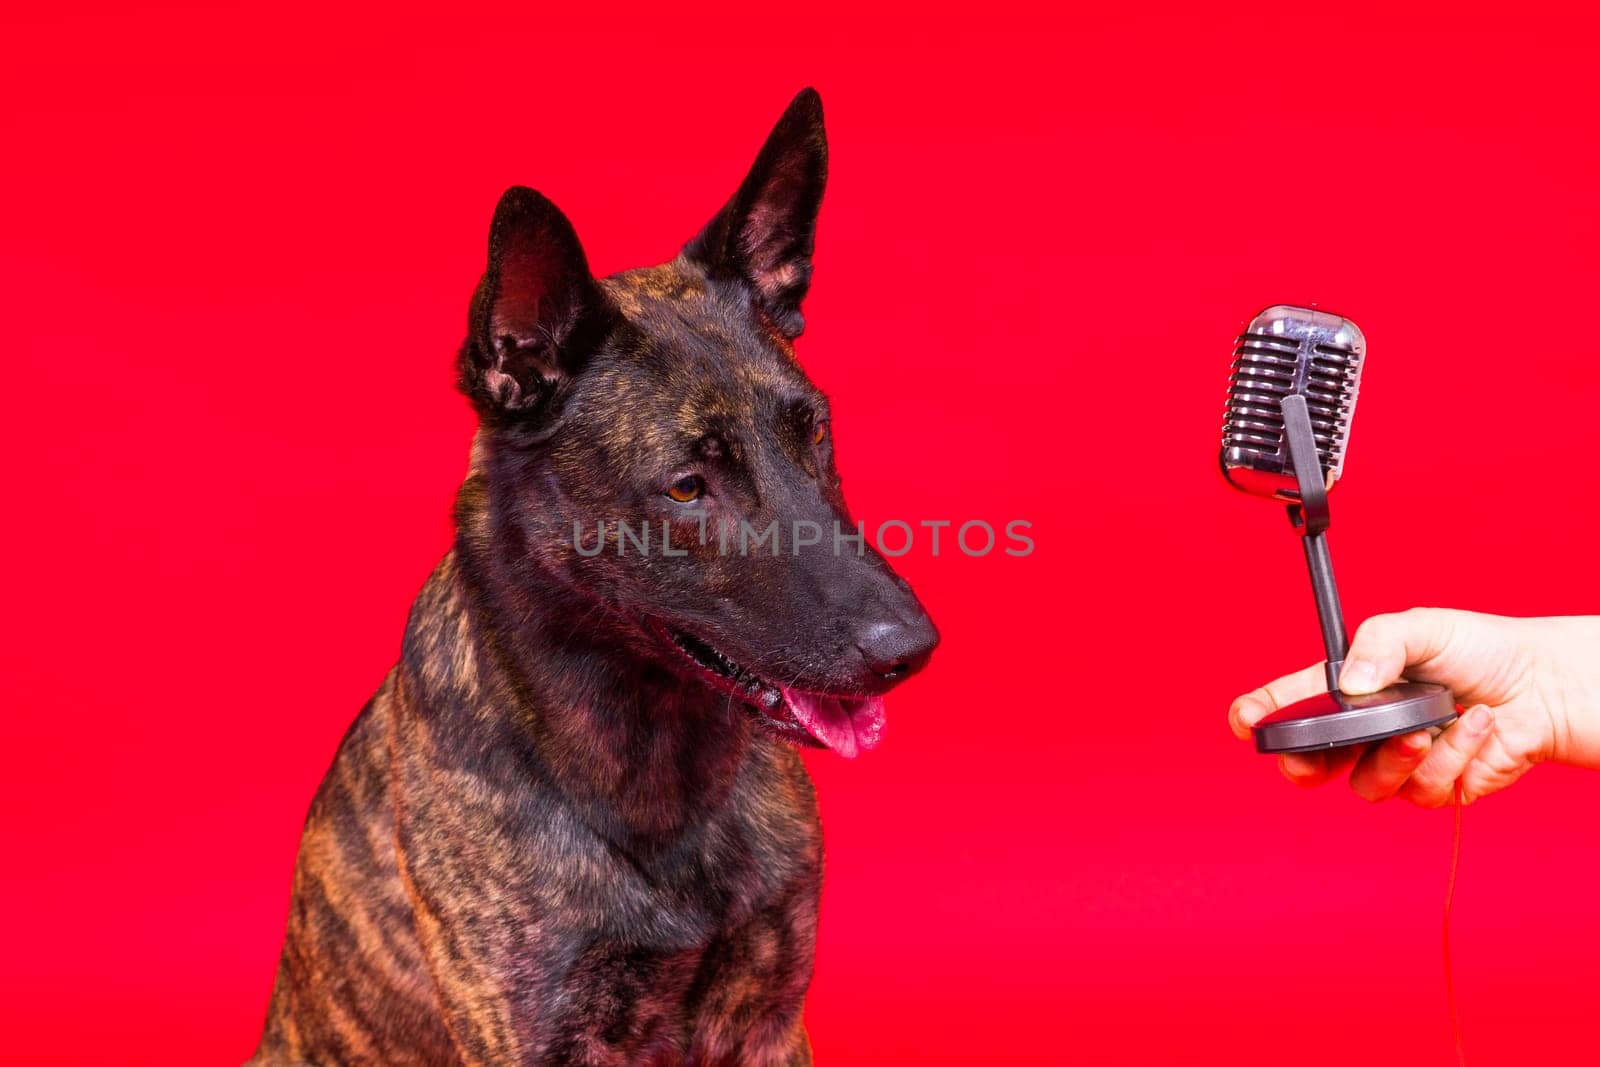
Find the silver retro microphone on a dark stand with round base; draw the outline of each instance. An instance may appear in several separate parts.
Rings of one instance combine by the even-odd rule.
[[[1288,504],[1301,533],[1328,691],[1256,723],[1258,752],[1310,752],[1446,726],[1456,702],[1438,685],[1403,681],[1368,696],[1339,691],[1350,640],[1328,557],[1328,490],[1344,469],[1366,339],[1349,318],[1275,304],[1235,341],[1222,422],[1222,477]]]

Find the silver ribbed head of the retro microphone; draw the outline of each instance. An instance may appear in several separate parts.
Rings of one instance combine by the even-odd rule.
[[[1240,490],[1298,499],[1283,437],[1283,398],[1306,398],[1317,458],[1331,488],[1344,469],[1366,339],[1347,318],[1277,304],[1234,342],[1222,421],[1222,474]]]

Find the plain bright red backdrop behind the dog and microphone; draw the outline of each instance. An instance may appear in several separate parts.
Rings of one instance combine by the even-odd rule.
[[[1205,5],[1210,6],[1210,5]],[[1446,1064],[1448,813],[1298,792],[1230,697],[1317,656],[1278,509],[1214,472],[1230,339],[1371,344],[1352,619],[1600,608],[1595,26],[1402,5],[336,5],[0,26],[0,1038],[237,1062],[306,805],[450,539],[451,357],[514,182],[602,272],[674,253],[790,94],[834,174],[802,358],[939,621],[816,758],[824,1064]],[[1467,811],[1469,1059],[1594,1056],[1600,777]]]

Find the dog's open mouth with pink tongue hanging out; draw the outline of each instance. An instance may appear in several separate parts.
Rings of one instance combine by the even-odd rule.
[[[707,685],[762,712],[766,726],[789,741],[832,749],[850,760],[859,752],[875,749],[883,739],[882,696],[837,696],[794,689],[741,667],[691,633],[654,621],[651,629],[666,638]]]

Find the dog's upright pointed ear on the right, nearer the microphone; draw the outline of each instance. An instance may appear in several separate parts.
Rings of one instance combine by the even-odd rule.
[[[773,325],[786,338],[798,338],[826,184],[822,98],[816,90],[802,90],[773,126],[739,190],[683,254],[712,277],[742,278]]]

